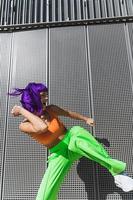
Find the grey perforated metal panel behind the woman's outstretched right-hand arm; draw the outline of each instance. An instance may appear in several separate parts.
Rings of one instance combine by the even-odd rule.
[[[84,27],[71,27],[50,29],[50,103],[54,103],[66,109],[77,111],[90,116],[90,102],[88,89],[88,69],[86,40]],[[63,118],[62,118],[63,119]],[[84,122],[63,120],[67,127],[81,124]],[[90,127],[86,126],[89,130]],[[92,163],[80,161],[74,165],[69,175],[65,179],[59,199],[87,199],[82,177],[89,177],[86,188],[89,198],[94,199],[95,180]],[[83,172],[79,168],[83,168]],[[79,176],[77,170],[79,169]],[[91,169],[91,173],[85,171]],[[88,173],[88,175],[87,175]]]

